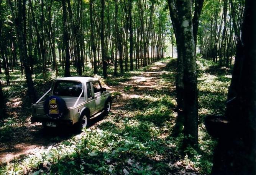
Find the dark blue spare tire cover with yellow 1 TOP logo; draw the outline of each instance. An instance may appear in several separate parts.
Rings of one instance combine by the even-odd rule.
[[[53,119],[64,117],[67,112],[66,102],[57,96],[51,96],[44,101],[44,113],[46,116]]]

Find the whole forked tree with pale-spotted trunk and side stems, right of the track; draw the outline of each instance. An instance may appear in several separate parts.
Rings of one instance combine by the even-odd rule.
[[[203,0],[195,2],[196,7]],[[175,135],[179,134],[184,124],[184,148],[198,145],[198,100],[197,74],[195,59],[195,40],[201,8],[195,8],[192,18],[191,0],[168,0],[172,26],[177,45],[177,112],[178,117],[174,128]],[[194,23],[193,23],[194,22]]]

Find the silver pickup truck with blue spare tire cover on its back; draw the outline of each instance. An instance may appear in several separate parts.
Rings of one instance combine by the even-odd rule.
[[[90,126],[90,119],[110,112],[111,94],[97,78],[65,77],[53,81],[51,88],[32,105],[31,122],[43,126],[78,124]]]

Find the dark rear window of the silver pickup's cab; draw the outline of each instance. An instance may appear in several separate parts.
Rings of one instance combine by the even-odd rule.
[[[57,81],[53,89],[54,96],[79,97],[82,92],[82,83],[74,81]],[[84,93],[81,97],[84,97]]]

